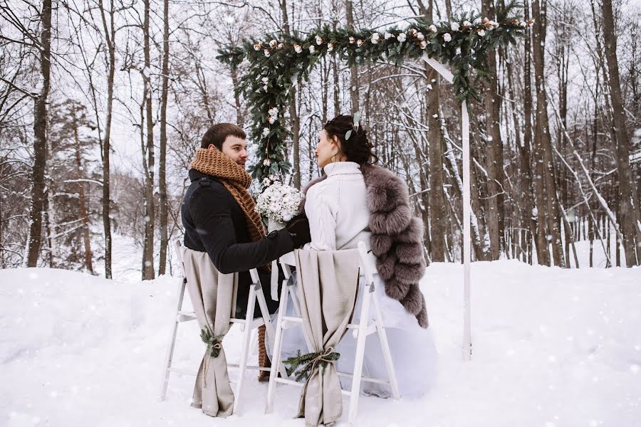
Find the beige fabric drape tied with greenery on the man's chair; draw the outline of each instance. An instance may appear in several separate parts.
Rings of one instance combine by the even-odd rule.
[[[229,331],[229,319],[236,307],[238,273],[221,274],[205,252],[181,248],[187,290],[194,306],[200,329],[207,329],[215,336]],[[192,406],[202,408],[209,416],[226,417],[234,408],[227,360],[224,349],[217,357],[206,351],[198,369]]]

